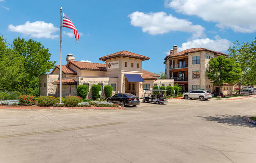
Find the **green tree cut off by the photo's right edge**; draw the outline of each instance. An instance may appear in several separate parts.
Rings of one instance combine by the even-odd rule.
[[[241,85],[256,85],[256,37],[251,43],[234,42],[233,47],[229,47],[229,55],[241,65],[242,75],[236,80],[239,92]]]

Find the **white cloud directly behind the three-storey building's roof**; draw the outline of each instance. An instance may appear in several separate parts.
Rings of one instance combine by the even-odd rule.
[[[229,49],[229,46],[231,45],[232,42],[227,39],[219,38],[219,36],[217,35],[215,36],[215,40],[212,40],[210,38],[202,38],[184,42],[182,43],[181,47],[178,47],[178,51],[184,51],[190,48],[203,47],[212,51],[225,52],[227,51],[227,49]]]

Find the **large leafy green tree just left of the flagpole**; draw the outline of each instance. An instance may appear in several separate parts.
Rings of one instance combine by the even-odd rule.
[[[12,48],[18,66],[16,78],[22,87],[22,93],[25,94],[31,81],[49,72],[56,62],[49,61],[51,53],[48,48],[44,48],[40,42],[32,39],[25,41],[24,38],[15,38]]]

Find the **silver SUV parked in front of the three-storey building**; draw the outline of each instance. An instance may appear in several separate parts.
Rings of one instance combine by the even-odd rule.
[[[195,91],[190,91],[188,93],[183,93],[183,98],[185,99],[199,98],[199,100],[208,100],[212,98],[212,94],[210,91],[195,90]]]

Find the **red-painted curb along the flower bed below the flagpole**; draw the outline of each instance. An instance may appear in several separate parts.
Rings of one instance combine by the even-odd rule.
[[[49,109],[49,110],[88,110],[88,109],[99,109],[99,110],[123,110],[124,107],[0,107],[0,109]]]

